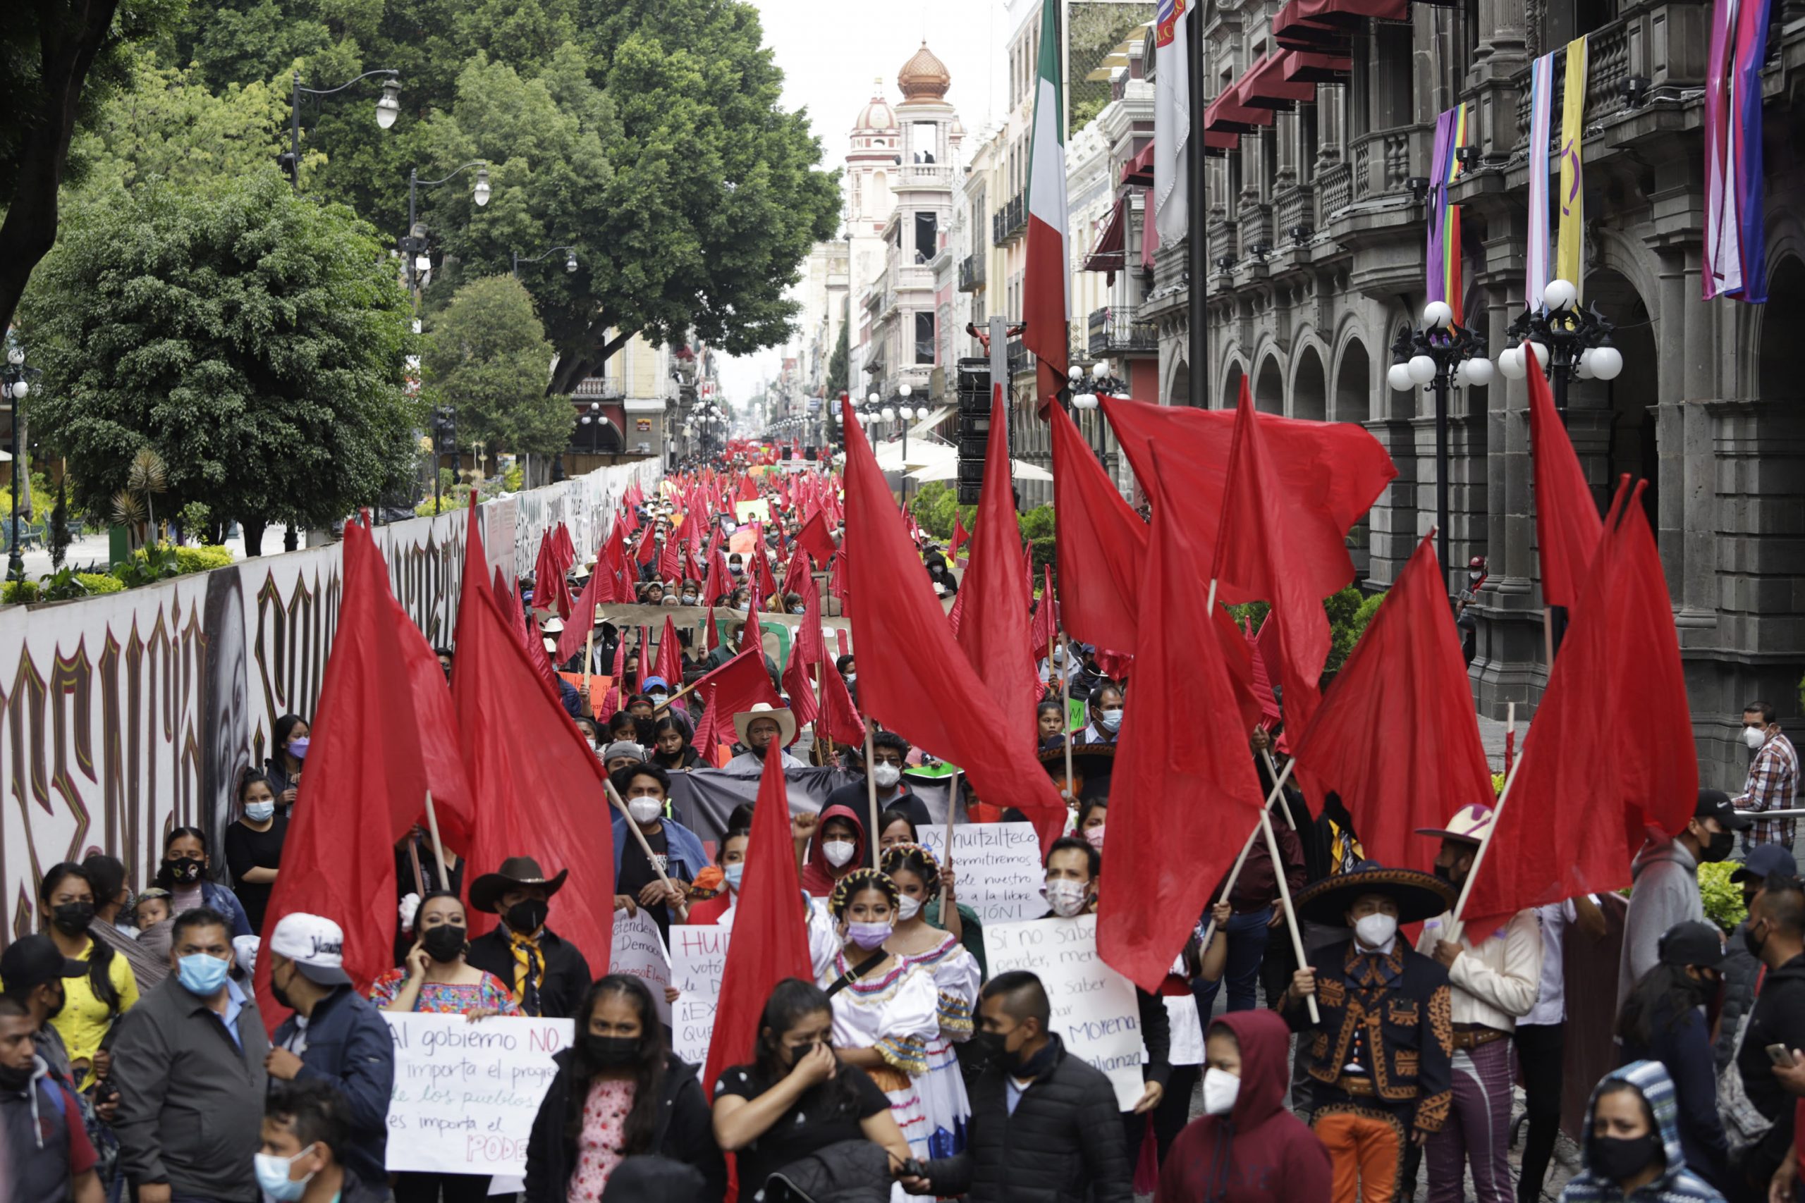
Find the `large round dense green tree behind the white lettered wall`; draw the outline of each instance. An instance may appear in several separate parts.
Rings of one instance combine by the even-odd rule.
[[[83,207],[20,307],[76,505],[110,512],[152,447],[159,509],[206,501],[249,554],[267,523],[325,527],[412,478],[410,321],[375,231],[274,166]]]

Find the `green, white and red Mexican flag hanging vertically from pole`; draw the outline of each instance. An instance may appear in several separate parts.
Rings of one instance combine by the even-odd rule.
[[[1041,0],[1040,76],[1027,175],[1027,265],[1022,280],[1022,344],[1040,361],[1036,409],[1065,384],[1067,323],[1072,314],[1070,254],[1065,247],[1065,105],[1060,94],[1060,5]]]

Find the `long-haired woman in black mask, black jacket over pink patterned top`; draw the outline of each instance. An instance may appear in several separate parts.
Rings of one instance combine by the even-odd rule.
[[[554,1057],[558,1077],[527,1142],[527,1203],[597,1203],[623,1158],[659,1152],[702,1171],[718,1198],[727,1171],[715,1145],[695,1066],[664,1048],[652,992],[610,974],[576,1014],[576,1044]]]

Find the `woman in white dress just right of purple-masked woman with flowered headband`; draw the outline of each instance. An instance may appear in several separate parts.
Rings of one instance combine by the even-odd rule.
[[[892,844],[883,869],[897,884],[897,925],[884,949],[904,963],[933,976],[935,1017],[940,1030],[928,1041],[928,1071],[915,1079],[928,1116],[928,1154],[949,1158],[966,1147],[971,1100],[958,1073],[953,1044],[971,1039],[982,974],[966,947],[939,927],[930,927],[924,907],[940,891],[940,862],[921,844]]]

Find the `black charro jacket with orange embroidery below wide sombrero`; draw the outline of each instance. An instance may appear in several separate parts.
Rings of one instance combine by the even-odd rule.
[[[1310,952],[1321,1024],[1310,1026],[1303,1003],[1285,1008],[1316,1093],[1316,1115],[1359,1111],[1401,1129],[1440,1131],[1453,1102],[1453,996],[1448,970],[1413,950],[1402,936],[1384,956],[1361,952],[1352,940]],[[1366,1070],[1372,1093],[1336,1084],[1345,1066]]]

